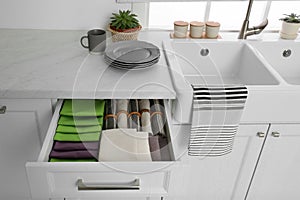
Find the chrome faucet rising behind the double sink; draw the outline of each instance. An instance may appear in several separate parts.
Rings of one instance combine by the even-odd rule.
[[[268,25],[268,19],[266,19],[260,25],[249,28],[249,17],[251,13],[252,4],[253,0],[249,0],[246,18],[243,22],[238,39],[247,39],[247,36],[259,34]]]

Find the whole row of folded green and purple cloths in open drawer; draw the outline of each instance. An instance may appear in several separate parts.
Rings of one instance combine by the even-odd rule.
[[[104,100],[64,101],[50,162],[97,161],[104,106]]]

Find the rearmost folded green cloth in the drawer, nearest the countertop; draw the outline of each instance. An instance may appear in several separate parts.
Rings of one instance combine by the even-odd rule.
[[[67,99],[60,111],[61,115],[65,116],[103,116],[104,115],[104,100],[90,99]]]

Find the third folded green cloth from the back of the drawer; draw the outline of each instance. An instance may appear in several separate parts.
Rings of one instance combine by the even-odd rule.
[[[64,126],[58,125],[56,128],[57,132],[60,133],[93,133],[100,132],[102,130],[101,126]]]

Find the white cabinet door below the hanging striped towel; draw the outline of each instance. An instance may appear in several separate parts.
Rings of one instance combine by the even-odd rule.
[[[240,125],[233,151],[221,157],[188,159],[189,173],[182,181],[185,198],[242,200],[245,198],[268,124]],[[183,199],[183,198],[181,198]]]

